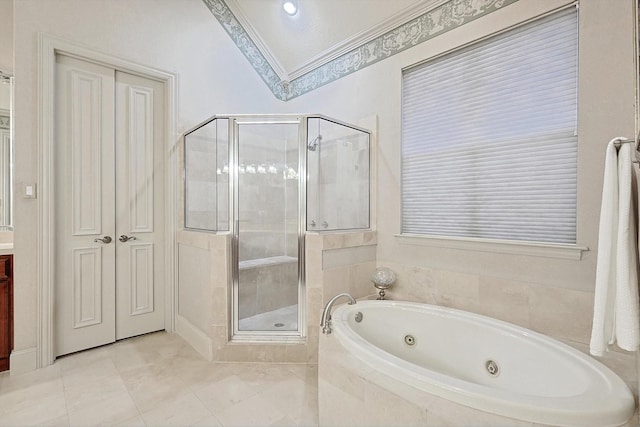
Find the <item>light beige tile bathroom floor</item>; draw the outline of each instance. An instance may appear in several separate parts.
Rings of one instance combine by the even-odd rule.
[[[0,426],[315,426],[317,367],[211,363],[158,332],[0,374]]]

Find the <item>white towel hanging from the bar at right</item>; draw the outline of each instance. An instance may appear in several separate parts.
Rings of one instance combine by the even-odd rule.
[[[640,343],[633,144],[621,144],[616,150],[617,139],[609,142],[605,159],[589,346],[594,356],[602,356],[614,343],[629,351]]]

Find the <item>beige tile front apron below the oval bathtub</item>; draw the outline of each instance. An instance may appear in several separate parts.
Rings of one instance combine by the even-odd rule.
[[[404,384],[365,365],[335,336],[320,337],[319,425],[544,427],[459,405]],[[637,414],[625,427],[638,425]]]

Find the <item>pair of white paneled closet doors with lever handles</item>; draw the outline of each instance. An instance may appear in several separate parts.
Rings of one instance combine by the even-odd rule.
[[[163,90],[57,55],[56,356],[165,328]]]

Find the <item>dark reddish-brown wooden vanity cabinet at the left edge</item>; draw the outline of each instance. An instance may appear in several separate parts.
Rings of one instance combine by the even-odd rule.
[[[0,255],[0,371],[13,350],[13,255]]]

